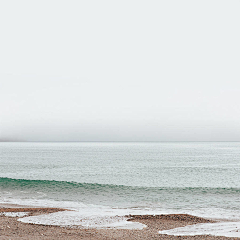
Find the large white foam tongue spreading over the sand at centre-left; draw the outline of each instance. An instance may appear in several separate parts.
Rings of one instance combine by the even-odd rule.
[[[2,199],[3,200],[3,199]],[[4,199],[5,200],[5,199]],[[119,209],[81,202],[53,201],[47,199],[7,199],[8,204],[25,206],[59,207],[72,211],[24,217],[22,222],[59,226],[83,226],[89,228],[142,229],[144,224],[127,221],[125,215],[154,214],[155,211],[142,209]]]

